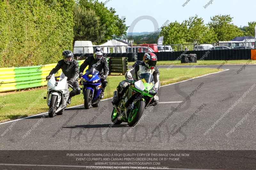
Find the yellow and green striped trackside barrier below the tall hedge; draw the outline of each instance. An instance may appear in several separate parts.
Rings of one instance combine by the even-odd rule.
[[[83,62],[84,60],[79,60],[79,66]],[[56,64],[0,68],[0,92],[45,86],[47,84],[45,78]],[[61,72],[59,70],[57,76]]]

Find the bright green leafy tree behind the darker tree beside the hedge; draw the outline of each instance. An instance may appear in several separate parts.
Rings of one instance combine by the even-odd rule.
[[[98,0],[80,0],[78,4],[86,10],[95,11],[95,15],[99,17],[100,28],[104,32],[102,35],[98,35],[94,38],[97,40],[97,42],[95,41],[96,43],[107,41],[111,39],[113,35],[121,36],[126,34],[128,27],[125,25],[125,19],[119,18],[119,16],[115,14],[115,9],[110,8],[108,10],[108,8]],[[95,23],[92,23],[90,27],[94,28],[94,24]],[[94,41],[92,39],[87,40]]]

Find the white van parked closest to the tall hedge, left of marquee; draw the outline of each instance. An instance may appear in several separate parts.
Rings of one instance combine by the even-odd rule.
[[[93,45],[92,41],[75,41],[73,54],[75,56],[80,56],[81,54],[92,54]]]

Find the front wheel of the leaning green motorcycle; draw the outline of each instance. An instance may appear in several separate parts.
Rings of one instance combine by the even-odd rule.
[[[140,120],[140,117],[144,112],[145,106],[146,102],[142,100],[135,103],[134,108],[130,111],[129,115],[127,116],[127,123],[129,126],[134,126]]]

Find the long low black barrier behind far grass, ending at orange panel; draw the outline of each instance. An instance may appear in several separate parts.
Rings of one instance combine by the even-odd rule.
[[[143,59],[145,53],[138,53],[138,60]],[[173,51],[155,52],[158,61],[173,61],[182,54],[196,54],[197,60],[249,60],[251,49],[223,49],[223,50],[202,50],[202,51]]]

